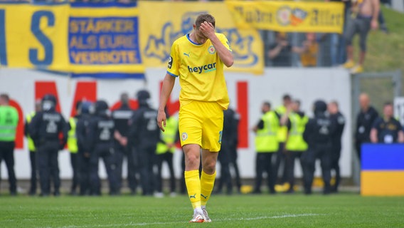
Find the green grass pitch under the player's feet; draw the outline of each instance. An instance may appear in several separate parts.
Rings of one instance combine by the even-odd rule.
[[[188,198],[0,197],[0,227],[404,227],[404,197],[213,195],[212,223],[189,224]]]

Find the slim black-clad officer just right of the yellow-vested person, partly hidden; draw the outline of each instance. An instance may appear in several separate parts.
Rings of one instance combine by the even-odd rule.
[[[91,195],[90,192],[90,149],[88,147],[88,133],[91,115],[89,113],[91,103],[82,103],[81,115],[76,126],[76,138],[78,144],[78,173],[80,195]]]

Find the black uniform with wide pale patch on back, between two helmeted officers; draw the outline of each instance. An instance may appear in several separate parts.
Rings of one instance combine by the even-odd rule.
[[[115,123],[115,129],[123,137],[127,137],[129,131],[129,120],[132,117],[133,110],[127,104],[122,104],[120,108],[112,112],[112,119]],[[134,150],[127,145],[121,145],[115,140],[115,149],[117,156],[117,175],[119,178],[119,186],[122,187],[122,162],[124,156],[127,157],[127,180],[129,189],[134,194],[137,188],[137,165],[134,158]]]

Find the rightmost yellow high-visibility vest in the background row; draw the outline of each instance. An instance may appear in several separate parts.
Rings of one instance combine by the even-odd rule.
[[[303,133],[309,118],[306,115],[301,117],[297,113],[290,113],[289,120],[291,126],[289,138],[287,138],[286,142],[286,150],[302,152],[307,150],[307,142],[303,139]]]

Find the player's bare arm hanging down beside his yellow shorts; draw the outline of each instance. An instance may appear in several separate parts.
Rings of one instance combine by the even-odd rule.
[[[166,108],[167,101],[169,100],[175,82],[176,78],[171,76],[169,73],[166,73],[163,86],[161,87],[160,104],[157,113],[157,125],[159,125],[159,128],[162,131],[164,131],[164,128],[166,127],[166,112],[164,111],[164,108]]]

